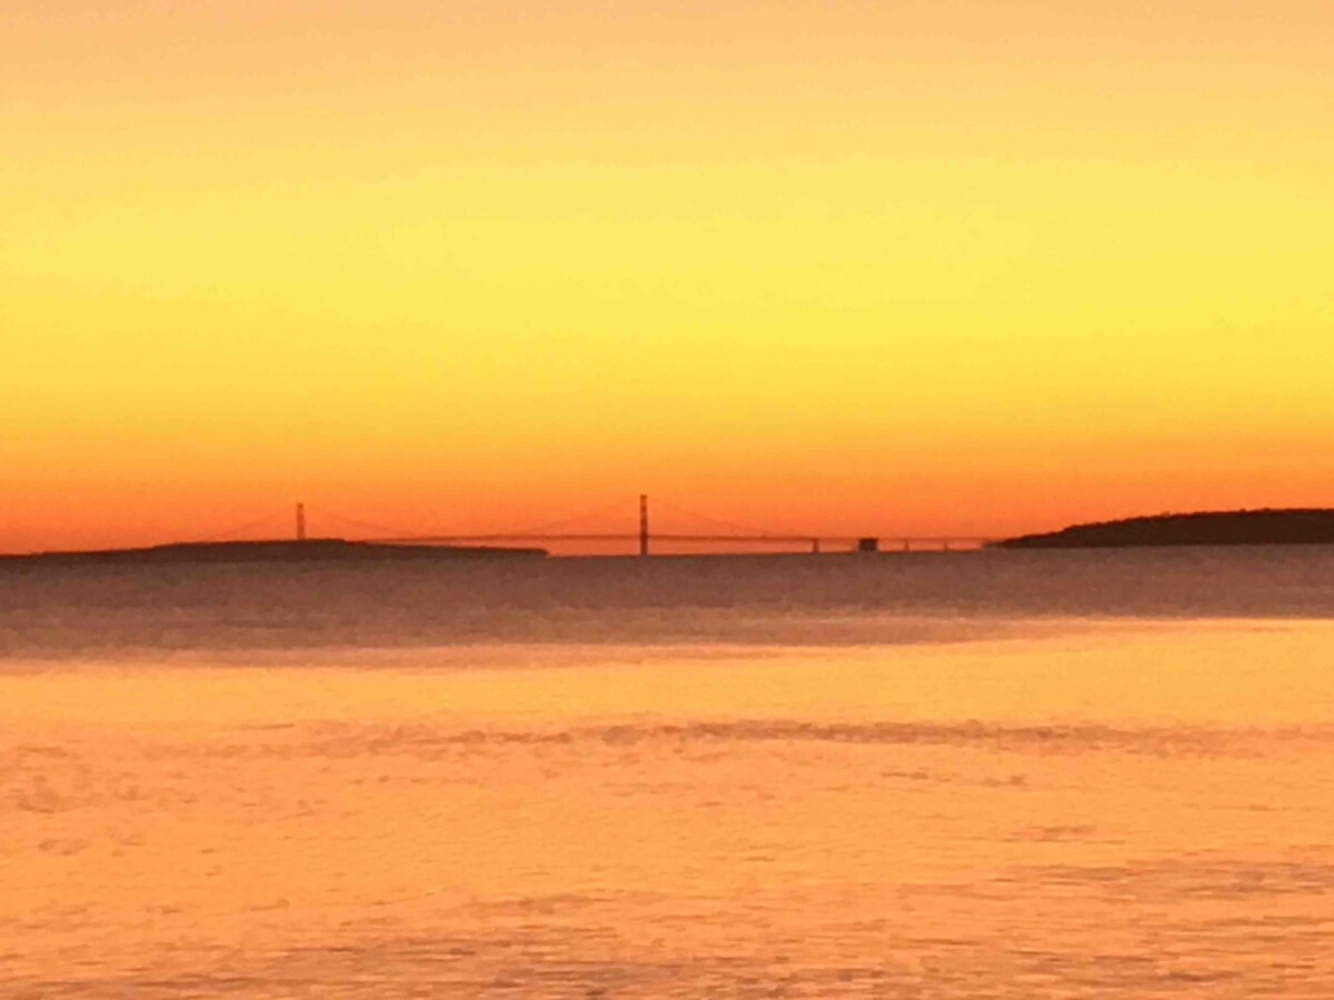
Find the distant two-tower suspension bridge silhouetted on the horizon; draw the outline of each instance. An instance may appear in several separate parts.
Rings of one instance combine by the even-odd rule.
[[[518,529],[484,532],[443,532],[411,531],[403,527],[378,524],[358,517],[312,507],[304,503],[293,508],[275,511],[263,517],[212,533],[209,541],[227,541],[240,537],[253,537],[255,532],[272,531],[280,519],[291,525],[291,537],[305,541],[315,537],[309,532],[311,523],[323,528],[338,529],[338,537],[350,541],[376,543],[382,545],[555,545],[570,552],[638,552],[650,555],[684,555],[687,551],[800,551],[815,555],[827,552],[947,552],[954,549],[980,548],[996,539],[975,535],[911,535],[870,532],[860,535],[838,535],[806,531],[778,531],[751,524],[728,521],[699,513],[662,500],[650,504],[646,495],[639,496],[638,524],[623,531],[595,529],[591,525],[606,525],[610,519],[624,517],[634,508],[626,500],[618,500],[594,511],[586,511],[572,517],[526,525]],[[666,511],[670,527],[656,529],[659,512]],[[618,517],[619,515],[619,517]],[[628,517],[626,520],[630,520]],[[680,527],[682,521],[694,523],[695,528]],[[352,533],[348,533],[351,531]],[[271,537],[271,536],[269,536]],[[328,537],[328,536],[325,536]],[[663,549],[667,549],[664,552]]]

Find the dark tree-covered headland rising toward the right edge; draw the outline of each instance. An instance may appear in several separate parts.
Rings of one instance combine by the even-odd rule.
[[[1323,508],[1159,513],[992,543],[998,548],[1329,544],[1334,544],[1334,509]]]

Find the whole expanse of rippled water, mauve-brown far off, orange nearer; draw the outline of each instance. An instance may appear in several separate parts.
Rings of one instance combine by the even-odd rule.
[[[1334,996],[1334,549],[0,569],[0,995]]]

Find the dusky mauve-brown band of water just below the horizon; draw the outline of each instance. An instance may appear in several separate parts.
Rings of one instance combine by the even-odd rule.
[[[856,644],[1030,620],[1331,617],[1329,547],[884,559],[0,567],[11,661],[460,644]],[[414,655],[415,656],[415,655]],[[316,664],[319,657],[299,657]],[[410,661],[415,661],[410,657]]]

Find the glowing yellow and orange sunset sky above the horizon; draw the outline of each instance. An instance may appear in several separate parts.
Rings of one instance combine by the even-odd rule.
[[[1334,505],[1329,0],[15,0],[0,95],[0,551]]]

